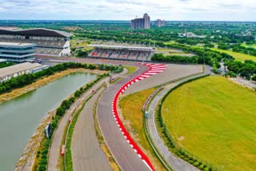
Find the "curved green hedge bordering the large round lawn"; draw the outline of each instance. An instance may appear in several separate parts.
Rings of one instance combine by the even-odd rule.
[[[199,78],[204,78],[207,77],[209,75],[204,75],[202,77]],[[186,82],[182,82],[176,86],[174,86],[173,89],[170,89],[168,91],[168,93],[165,94],[165,96],[162,98],[162,100],[160,101],[159,105],[158,105],[158,112],[157,112],[157,121],[158,121],[158,125],[160,127],[161,130],[161,134],[163,137],[166,138],[167,142],[166,145],[172,149],[172,151],[174,151],[174,153],[182,158],[183,160],[189,162],[191,165],[194,165],[195,167],[197,167],[198,169],[204,170],[204,171],[211,171],[211,170],[215,170],[216,168],[214,168],[212,165],[206,163],[206,161],[202,161],[201,159],[199,159],[198,157],[194,156],[192,153],[187,152],[186,150],[182,149],[178,144],[175,143],[174,138],[170,135],[170,133],[168,132],[168,130],[166,129],[166,125],[162,119],[162,113],[161,113],[161,109],[162,109],[162,103],[163,101],[166,100],[166,97],[172,92],[174,91],[174,89],[177,89],[178,87],[180,87],[181,85],[184,85],[188,82],[192,82],[194,80],[197,80],[199,78],[192,78],[190,80],[187,80]]]

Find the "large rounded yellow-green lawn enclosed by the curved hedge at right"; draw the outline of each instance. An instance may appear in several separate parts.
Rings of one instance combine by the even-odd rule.
[[[162,117],[174,140],[225,170],[256,169],[256,92],[222,77],[182,85],[166,98]]]

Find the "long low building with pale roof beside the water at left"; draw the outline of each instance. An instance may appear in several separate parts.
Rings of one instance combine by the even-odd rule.
[[[10,78],[18,77],[22,74],[34,73],[40,69],[44,69],[46,66],[42,66],[38,63],[25,62],[14,66],[8,66],[0,69],[0,82],[6,82]]]

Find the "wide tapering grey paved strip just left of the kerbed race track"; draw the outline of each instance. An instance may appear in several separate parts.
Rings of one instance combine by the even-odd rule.
[[[71,153],[74,171],[104,170],[110,171],[110,164],[102,152],[94,129],[94,102],[103,89],[98,90],[94,96],[86,102],[74,126],[71,141]]]

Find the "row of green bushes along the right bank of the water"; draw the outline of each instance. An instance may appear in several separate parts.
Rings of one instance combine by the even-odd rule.
[[[60,120],[60,118],[66,113],[67,109],[70,109],[70,105],[72,105],[74,103],[74,101],[76,101],[76,99],[82,95],[82,93],[85,93],[86,90],[90,89],[93,85],[95,85],[97,82],[99,82],[102,78],[106,78],[107,76],[109,76],[109,74],[99,75],[98,78],[96,80],[94,80],[94,82],[90,82],[84,88],[81,87],[80,89],[78,89],[74,93],[73,97],[70,97],[68,100],[62,101],[62,105],[60,105],[58,107],[58,109],[56,110],[56,115],[53,117],[53,119],[51,121],[50,137],[42,145],[42,153],[38,151],[38,156],[37,157],[39,157],[39,154],[41,153],[41,160],[39,161],[39,164],[38,164],[39,165],[39,167],[38,167],[39,171],[45,171],[47,169],[48,152],[49,152],[49,149],[50,149],[52,134],[54,133],[54,130],[58,126],[58,121]]]

